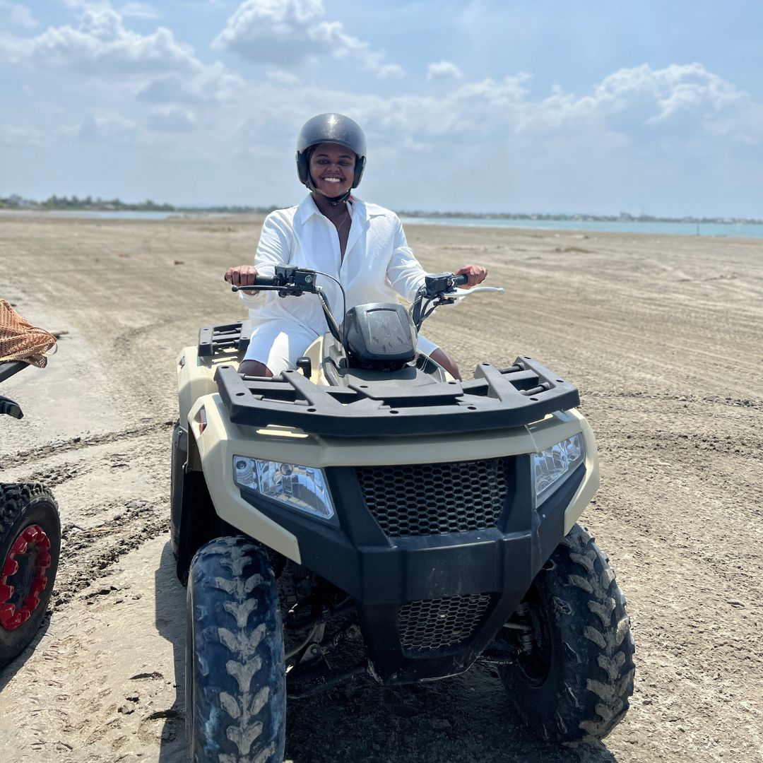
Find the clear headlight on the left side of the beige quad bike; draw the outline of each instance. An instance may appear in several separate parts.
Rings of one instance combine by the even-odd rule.
[[[314,517],[330,520],[334,515],[323,469],[233,456],[233,481]]]

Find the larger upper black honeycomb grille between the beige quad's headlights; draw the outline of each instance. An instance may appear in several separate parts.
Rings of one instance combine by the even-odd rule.
[[[510,459],[362,466],[365,505],[391,538],[494,527],[509,491]]]

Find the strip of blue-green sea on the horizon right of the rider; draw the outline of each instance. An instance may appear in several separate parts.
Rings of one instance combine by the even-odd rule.
[[[588,220],[491,220],[474,217],[401,217],[409,225],[458,225],[480,228],[525,228],[527,230],[579,230],[584,233],[668,233],[671,236],[729,236],[763,238],[763,225],[742,223],[642,223],[637,221]]]

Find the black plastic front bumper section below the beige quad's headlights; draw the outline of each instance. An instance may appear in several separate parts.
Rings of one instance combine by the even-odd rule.
[[[298,539],[305,566],[356,599],[372,668],[388,684],[443,678],[472,665],[564,536],[565,507],[585,477],[581,465],[536,509],[530,456],[455,466],[327,468],[338,526],[303,518],[242,491],[253,506]],[[501,471],[504,488],[501,505],[492,514],[473,485],[465,486],[477,504],[471,507],[455,507],[443,491],[427,506],[423,494],[434,486],[413,487],[417,479],[434,476],[449,492],[470,470],[491,468]],[[410,513],[405,520],[391,516],[384,510],[389,502],[382,499],[379,504],[373,496],[375,486],[399,493],[401,482],[402,491],[414,490],[422,497],[413,519]],[[495,491],[488,492],[497,497]],[[434,518],[431,511],[438,503],[442,511]],[[488,523],[492,526],[459,531]],[[409,534],[429,533],[427,526],[435,532]]]

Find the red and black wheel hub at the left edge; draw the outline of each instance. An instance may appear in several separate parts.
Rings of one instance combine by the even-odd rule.
[[[15,630],[40,606],[50,567],[50,538],[40,525],[18,533],[0,571],[0,627]]]

